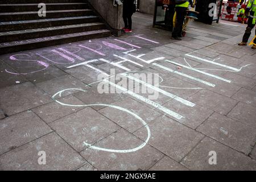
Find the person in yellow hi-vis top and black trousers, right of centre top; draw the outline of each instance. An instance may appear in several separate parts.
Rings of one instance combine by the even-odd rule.
[[[176,1],[175,1],[176,2]],[[177,23],[174,28],[174,32],[172,32],[172,38],[174,40],[182,40],[182,27],[185,19],[185,15],[187,15],[187,10],[189,4],[191,7],[194,7],[192,0],[187,0],[184,3],[177,4],[175,6],[175,11],[176,11],[176,19]]]

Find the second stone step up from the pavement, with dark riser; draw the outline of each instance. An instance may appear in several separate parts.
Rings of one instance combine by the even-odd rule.
[[[26,40],[26,39],[35,39],[35,38],[55,36],[55,35],[61,35],[61,34],[71,34],[71,33],[77,33],[77,32],[100,30],[104,28],[106,28],[104,23],[96,22],[96,23],[71,24],[66,26],[0,32],[0,43],[14,42],[14,41]]]

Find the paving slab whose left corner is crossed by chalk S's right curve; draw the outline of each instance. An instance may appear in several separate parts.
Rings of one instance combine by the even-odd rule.
[[[154,122],[149,123],[148,127],[151,130],[148,143],[176,161],[187,155],[204,137],[197,131],[166,116],[155,119]],[[147,138],[144,127],[134,134],[143,140]]]

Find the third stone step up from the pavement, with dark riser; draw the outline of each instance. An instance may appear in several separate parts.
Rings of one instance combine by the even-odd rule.
[[[98,22],[98,16],[75,16],[67,18],[48,18],[36,20],[20,20],[13,22],[0,22],[0,32],[27,30],[32,28],[56,27],[69,24]]]

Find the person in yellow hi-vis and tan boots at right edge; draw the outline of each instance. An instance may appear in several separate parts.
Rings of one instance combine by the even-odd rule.
[[[243,35],[243,40],[241,43],[239,43],[239,46],[247,46],[248,39],[250,38],[251,35],[251,30],[253,30],[255,23],[256,23],[256,0],[249,0],[246,10],[245,10],[245,15],[249,16],[248,22],[247,22],[247,27],[245,30],[245,34]],[[255,35],[256,35],[256,30],[255,30]],[[254,45],[251,47],[252,49],[256,49],[256,39],[253,41]]]

